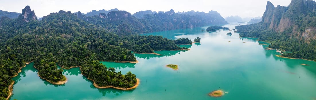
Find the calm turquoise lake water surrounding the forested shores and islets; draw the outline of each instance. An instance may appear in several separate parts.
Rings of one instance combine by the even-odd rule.
[[[233,29],[235,25],[224,25]],[[135,54],[137,64],[101,62],[116,71],[131,71],[140,84],[135,90],[97,89],[79,68],[64,70],[68,82],[52,85],[40,79],[33,63],[22,68],[15,81],[13,96],[18,100],[313,100],[316,98],[316,63],[276,57],[253,38],[239,38],[232,31],[206,32],[206,27],[162,31],[168,39],[197,36],[201,43],[182,45],[190,51],[155,51],[162,54]],[[226,35],[232,32],[232,36]],[[230,41],[230,42],[228,42]],[[243,43],[246,42],[246,43]],[[179,70],[165,67],[178,64]],[[300,64],[308,64],[303,66]],[[208,93],[221,89],[222,97]]]

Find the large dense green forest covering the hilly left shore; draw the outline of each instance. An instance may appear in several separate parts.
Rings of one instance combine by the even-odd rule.
[[[57,69],[56,64],[64,68],[81,65],[82,72],[99,86],[131,87],[136,82],[134,74],[122,75],[101,66],[98,61],[135,61],[131,51],[152,53],[153,50],[187,49],[162,36],[115,34],[111,28],[93,25],[70,11],[51,13],[41,21],[37,21],[29,6],[22,11],[17,19],[3,17],[0,20],[1,100],[9,95],[10,76],[16,75],[29,61],[34,61],[40,76],[52,82],[65,80],[63,69]],[[88,73],[90,69],[93,72]],[[111,80],[105,80],[103,76],[109,76]]]

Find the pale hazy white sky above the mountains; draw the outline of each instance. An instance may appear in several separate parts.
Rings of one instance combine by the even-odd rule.
[[[274,6],[288,6],[291,0],[270,0]],[[141,10],[152,11],[204,11],[219,12],[224,18],[231,15],[240,17],[262,16],[267,0],[0,0],[0,9],[21,13],[29,5],[38,18],[59,10],[81,11],[110,10],[118,8],[131,14]]]

